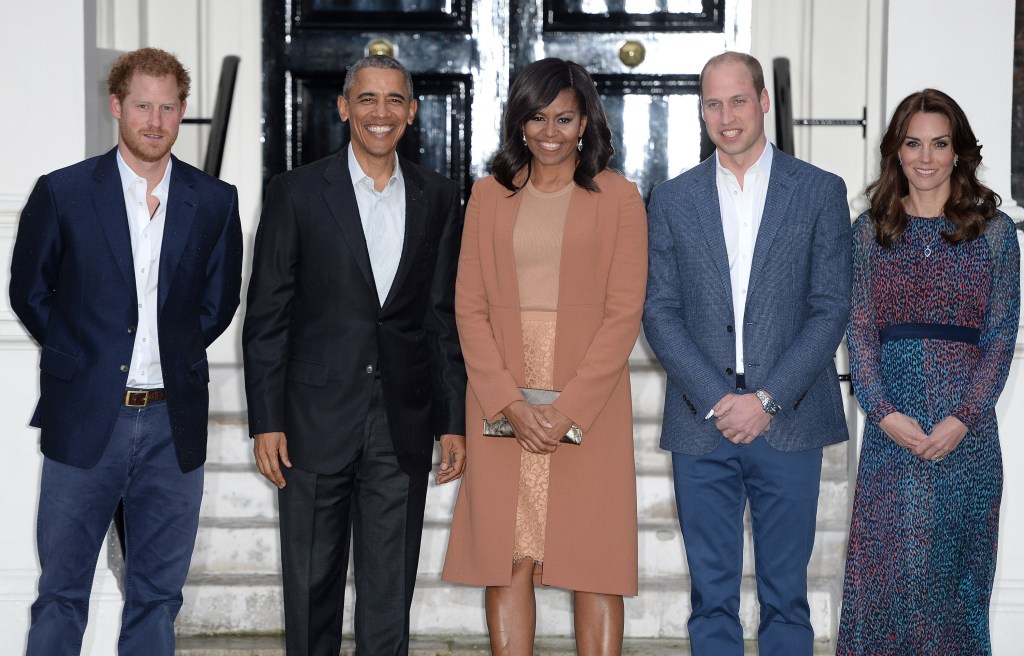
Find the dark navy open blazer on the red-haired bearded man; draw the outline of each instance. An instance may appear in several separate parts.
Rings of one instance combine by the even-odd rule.
[[[39,178],[22,213],[10,303],[42,346],[43,454],[96,464],[123,402],[138,322],[117,148]],[[182,472],[206,461],[206,348],[242,289],[233,186],[174,158],[160,253],[160,360]]]

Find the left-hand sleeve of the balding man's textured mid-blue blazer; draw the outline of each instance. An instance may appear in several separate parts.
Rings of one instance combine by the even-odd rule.
[[[735,390],[708,360],[686,327],[679,291],[694,281],[684,280],[679,275],[674,232],[669,226],[672,213],[678,210],[665,200],[665,187],[654,189],[648,208],[650,269],[644,303],[644,335],[669,378],[682,386],[702,417],[722,397]],[[688,235],[688,238],[695,237]]]

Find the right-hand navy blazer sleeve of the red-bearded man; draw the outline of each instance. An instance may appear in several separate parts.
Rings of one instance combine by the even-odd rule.
[[[239,191],[231,187],[224,227],[206,267],[206,289],[200,304],[200,325],[210,346],[234,317],[242,293],[242,222],[239,219]]]

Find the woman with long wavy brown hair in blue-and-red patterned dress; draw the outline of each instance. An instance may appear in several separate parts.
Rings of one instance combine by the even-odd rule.
[[[838,654],[990,654],[1017,235],[945,93],[900,102],[881,154],[854,224],[848,341],[867,420]]]

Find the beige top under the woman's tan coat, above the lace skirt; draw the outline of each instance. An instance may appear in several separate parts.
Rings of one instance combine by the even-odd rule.
[[[539,191],[527,180],[512,232],[519,308],[558,309],[558,271],[562,259],[562,230],[575,184],[557,191]]]

